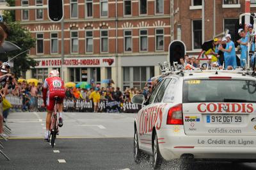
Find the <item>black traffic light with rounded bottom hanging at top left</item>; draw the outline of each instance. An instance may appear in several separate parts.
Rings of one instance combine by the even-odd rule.
[[[63,0],[48,0],[48,17],[52,22],[60,22],[63,17]]]

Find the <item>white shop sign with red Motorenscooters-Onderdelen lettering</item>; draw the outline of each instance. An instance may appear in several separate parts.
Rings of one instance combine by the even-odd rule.
[[[35,68],[61,67],[61,58],[35,59]],[[65,58],[64,65],[67,67],[102,67],[115,66],[115,57],[99,58]]]

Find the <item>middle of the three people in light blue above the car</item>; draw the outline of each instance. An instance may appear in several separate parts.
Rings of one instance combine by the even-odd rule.
[[[241,63],[241,68],[244,68],[244,66],[246,66],[246,61],[247,61],[248,36],[246,36],[246,33],[244,30],[242,30],[239,35],[241,36],[241,39],[237,40],[237,43],[239,43],[241,47],[240,63]]]

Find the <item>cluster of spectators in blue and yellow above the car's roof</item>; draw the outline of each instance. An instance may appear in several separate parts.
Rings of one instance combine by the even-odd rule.
[[[207,68],[219,68],[226,70],[234,70],[236,68],[244,68],[247,63],[248,48],[250,52],[255,52],[255,38],[253,35],[252,24],[246,24],[245,29],[239,29],[237,34],[240,39],[237,40],[237,48],[232,41],[231,35],[227,34],[224,37],[214,38],[212,44],[209,45],[204,52],[205,56],[210,56],[208,63],[200,63],[200,59],[196,59],[195,56],[184,56],[180,58],[179,66],[185,70],[192,70],[195,68],[207,69]],[[250,47],[248,43],[250,42]],[[240,58],[237,57],[237,53],[240,51]],[[255,68],[255,56],[252,54],[250,58],[250,66]]]

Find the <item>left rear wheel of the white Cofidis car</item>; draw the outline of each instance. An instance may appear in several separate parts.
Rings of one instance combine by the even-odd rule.
[[[157,134],[154,135],[154,143],[153,143],[153,167],[154,169],[159,169],[161,167],[161,163],[163,162],[163,158],[159,151]]]

